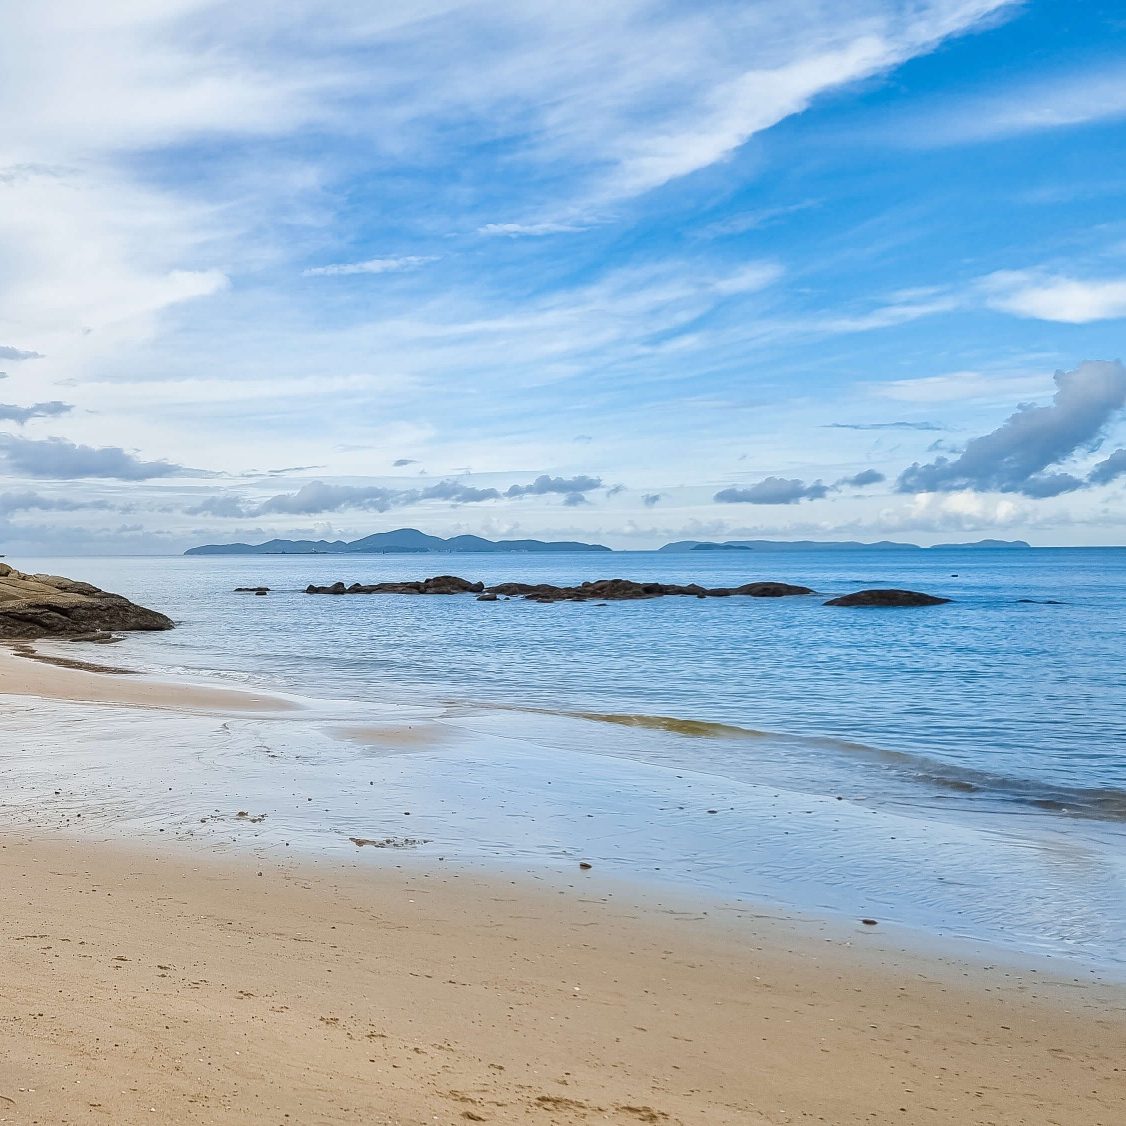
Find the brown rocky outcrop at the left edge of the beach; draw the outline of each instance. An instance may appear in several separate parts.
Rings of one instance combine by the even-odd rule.
[[[78,637],[172,626],[172,619],[163,614],[88,582],[53,574],[23,574],[0,563],[0,638]]]

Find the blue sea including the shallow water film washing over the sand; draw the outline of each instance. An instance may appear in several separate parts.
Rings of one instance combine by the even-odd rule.
[[[1126,548],[11,562],[178,623],[81,656],[300,711],[9,697],[9,821],[261,856],[545,873],[581,861],[591,876],[1126,976]],[[817,593],[538,605],[304,592],[443,573]],[[267,597],[235,592],[260,584]],[[824,605],[870,587],[951,601]]]

